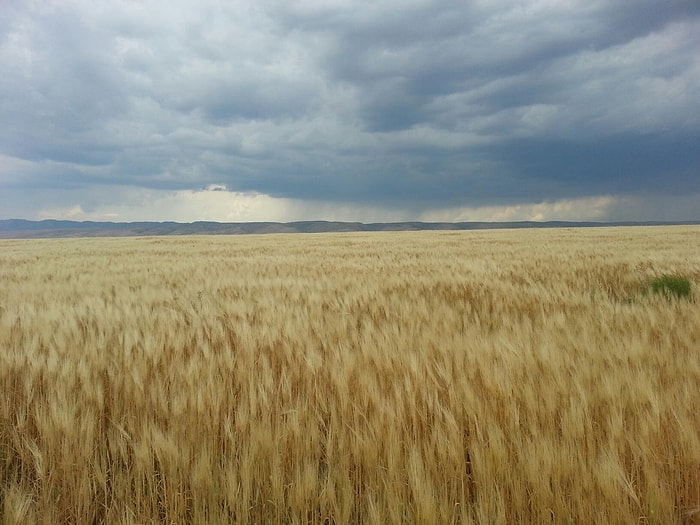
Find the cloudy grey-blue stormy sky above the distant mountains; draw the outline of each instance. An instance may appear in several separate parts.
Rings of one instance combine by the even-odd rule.
[[[7,218],[700,220],[700,2],[1,0]]]

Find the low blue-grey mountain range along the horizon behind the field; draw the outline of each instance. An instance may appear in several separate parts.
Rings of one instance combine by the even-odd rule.
[[[0,239],[133,237],[151,235],[244,235],[262,233],[488,230],[504,228],[582,228],[603,226],[700,225],[685,222],[92,222],[0,220]]]

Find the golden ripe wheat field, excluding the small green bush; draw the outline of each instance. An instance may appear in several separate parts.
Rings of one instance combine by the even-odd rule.
[[[690,226],[0,241],[0,516],[698,523],[698,285]]]

